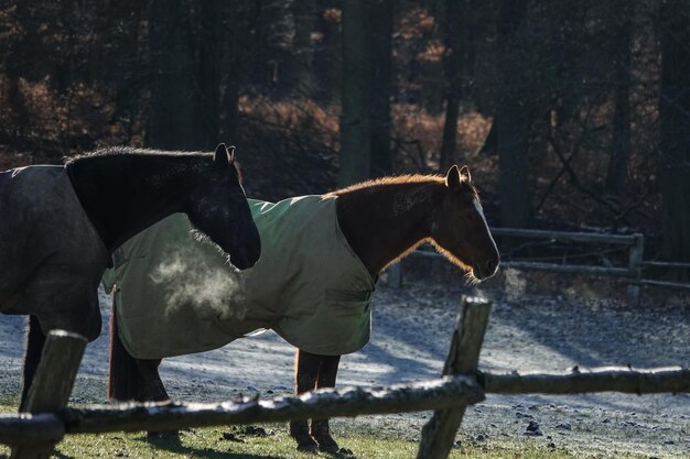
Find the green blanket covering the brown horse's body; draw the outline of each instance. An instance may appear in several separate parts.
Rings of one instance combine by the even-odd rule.
[[[335,196],[249,199],[261,258],[238,272],[173,215],[126,242],[104,276],[116,285],[126,349],[159,359],[216,349],[272,328],[317,354],[364,347],[374,280],[341,232]]]

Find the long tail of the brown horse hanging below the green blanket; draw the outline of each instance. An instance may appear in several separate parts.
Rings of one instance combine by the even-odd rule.
[[[122,345],[117,321],[117,295],[112,295],[110,309],[110,367],[108,373],[108,398],[131,401],[139,392],[139,367]]]

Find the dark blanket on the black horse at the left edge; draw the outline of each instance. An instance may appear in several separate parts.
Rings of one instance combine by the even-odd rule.
[[[0,172],[0,312],[93,340],[109,253],[63,166]]]

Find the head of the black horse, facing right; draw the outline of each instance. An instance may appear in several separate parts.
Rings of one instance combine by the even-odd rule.
[[[192,225],[230,255],[240,270],[251,267],[261,254],[259,231],[235,162],[235,149],[216,147],[213,166],[188,196],[186,214]]]

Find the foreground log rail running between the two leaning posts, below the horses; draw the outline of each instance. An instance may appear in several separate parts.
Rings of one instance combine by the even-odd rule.
[[[272,400],[244,398],[212,404],[123,404],[67,408],[67,433],[173,430],[225,424],[354,417],[471,405],[484,400],[482,387],[466,376],[379,389],[317,390]]]

